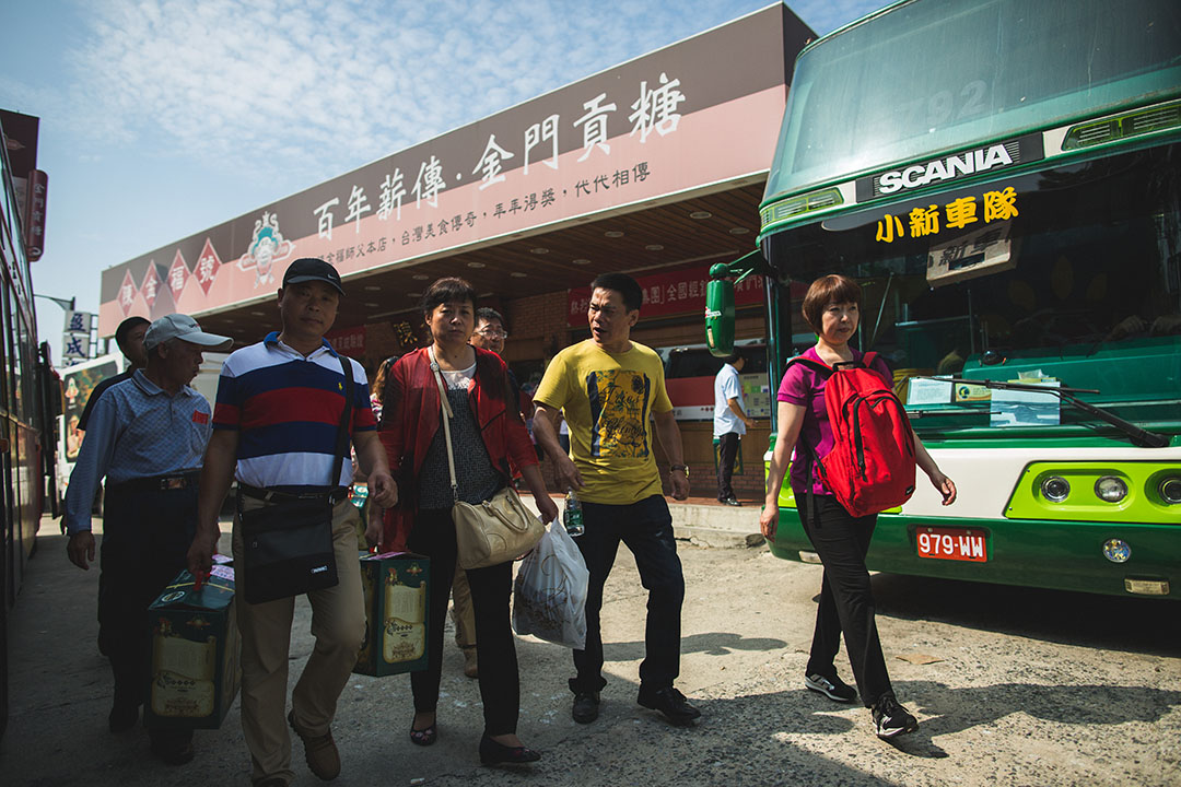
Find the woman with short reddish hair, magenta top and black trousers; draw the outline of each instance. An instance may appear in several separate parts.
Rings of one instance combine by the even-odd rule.
[[[860,361],[862,353],[849,346],[849,339],[857,329],[860,310],[861,287],[852,278],[831,275],[814,281],[804,296],[803,315],[816,332],[817,341],[803,358],[827,366]],[[874,359],[869,368],[877,372],[887,386],[892,386],[890,372],[880,358]],[[779,490],[797,441],[807,446],[814,457],[824,457],[833,450],[824,382],[820,373],[794,363],[788,367],[779,385],[779,428],[768,468],[766,500],[759,518],[763,534],[768,538],[775,536]],[[918,437],[914,438],[914,448],[919,467],[942,494],[944,505],[951,505],[955,500],[955,484],[940,472]],[[853,702],[860,693],[861,701],[873,711],[874,728],[880,737],[913,732],[918,721],[894,697],[874,621],[866,552],[869,551],[877,514],[853,517],[816,478],[807,478],[807,472],[808,463],[791,463],[791,490],[796,500],[802,500],[811,486],[814,518],[809,522],[801,512],[800,519],[824,564],[824,577],[804,686],[837,702]],[[857,690],[837,676],[834,665],[842,632]]]

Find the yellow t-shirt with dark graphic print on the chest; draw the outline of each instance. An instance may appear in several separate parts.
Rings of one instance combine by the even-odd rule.
[[[632,342],[612,354],[589,339],[567,347],[549,362],[533,400],[566,412],[570,457],[586,483],[579,498],[627,505],[661,493],[650,419],[672,402],[652,349]]]

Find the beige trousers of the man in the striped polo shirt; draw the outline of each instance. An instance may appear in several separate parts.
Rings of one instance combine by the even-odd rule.
[[[247,510],[262,505],[246,498]],[[365,598],[357,553],[357,520],[360,513],[347,499],[332,511],[332,542],[339,583],[308,593],[312,604],[312,636],[315,645],[292,691],[292,710],[300,729],[324,735],[337,713],[337,700],[348,682],[357,651],[365,637]],[[242,532],[234,518],[234,568],[244,573]],[[242,732],[250,749],[252,779],[257,782],[280,776],[295,779],[292,742],[287,726],[287,656],[291,648],[294,598],[263,604],[239,601],[237,624],[242,632]]]

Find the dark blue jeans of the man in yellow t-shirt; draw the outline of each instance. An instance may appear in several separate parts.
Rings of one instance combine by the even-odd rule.
[[[619,542],[635,556],[640,582],[648,591],[648,621],[645,631],[645,658],[640,683],[652,689],[672,686],[680,673],[680,608],[685,601],[685,576],[672,537],[672,514],[664,497],[629,505],[582,503],[586,532],[578,537],[582,558],[590,571],[587,591],[587,640],[583,650],[574,651],[578,676],[570,678],[575,694],[598,691],[607,684],[602,677],[602,634],[599,612],[602,586],[615,563]]]

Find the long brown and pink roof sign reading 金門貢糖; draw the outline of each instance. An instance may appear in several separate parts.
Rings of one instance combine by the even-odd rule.
[[[769,6],[149,251],[103,273],[99,334],[129,313],[200,316],[269,296],[299,257],[326,260],[347,282],[703,185],[749,183],[775,151],[784,64],[813,35],[787,6]],[[196,261],[198,287],[150,300],[148,269],[177,251]],[[672,283],[653,307],[697,308]]]

